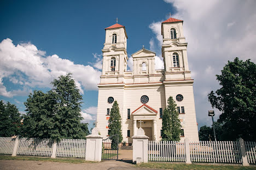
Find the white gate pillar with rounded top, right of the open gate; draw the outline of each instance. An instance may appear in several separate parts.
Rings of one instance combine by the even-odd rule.
[[[138,135],[132,136],[132,162],[133,163],[147,163],[148,162],[148,138],[144,130],[139,127]],[[137,162],[138,160],[138,162]]]

